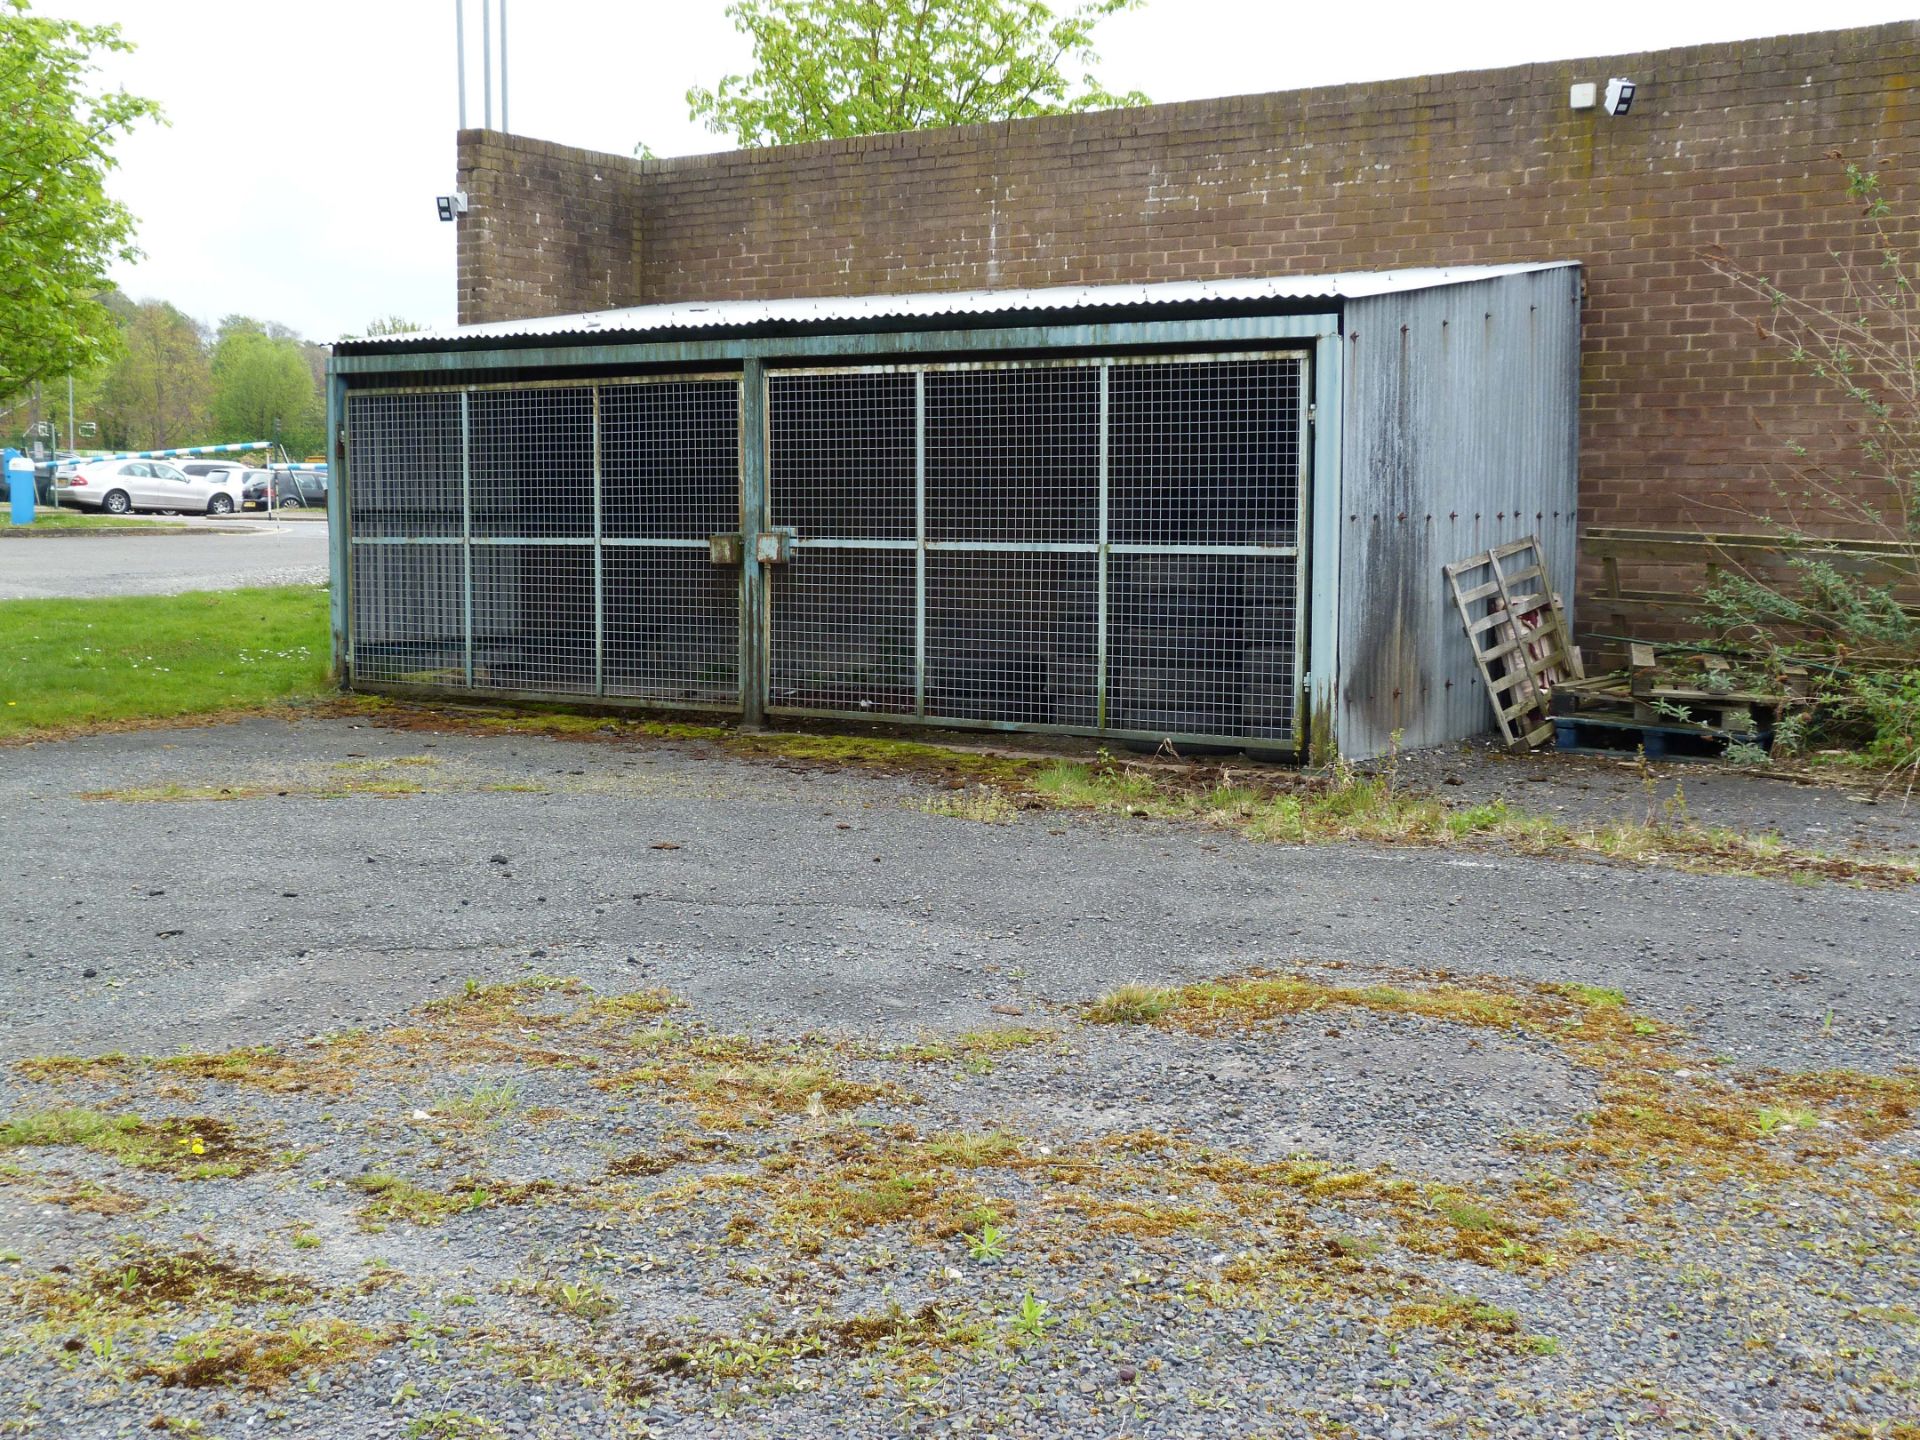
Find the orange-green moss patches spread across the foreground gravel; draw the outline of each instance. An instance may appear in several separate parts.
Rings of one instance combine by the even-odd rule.
[[[1496,1357],[1511,1367],[1555,1354],[1557,1340],[1528,1332],[1521,1315],[1465,1292],[1465,1283],[1459,1290],[1438,1288],[1423,1265],[1432,1269],[1432,1260],[1444,1260],[1507,1273],[1515,1279],[1503,1277],[1494,1292],[1509,1296],[1515,1284],[1546,1283],[1599,1250],[1640,1246],[1638,1254],[1651,1254],[1647,1236],[1657,1248],[1663,1215],[1678,1198],[1722,1185],[1734,1187],[1743,1213],[1755,1215],[1811,1192],[1878,1202],[1887,1213],[1912,1210],[1912,1167],[1885,1142],[1910,1129],[1920,1073],[1734,1073],[1705,1062],[1684,1033],[1636,1014],[1628,996],[1607,987],[1440,973],[1348,981],[1336,968],[1323,968],[1135,985],[1085,1012],[1089,1023],[1148,1025],[1173,1041],[1323,1023],[1329,1016],[1382,1016],[1551,1046],[1592,1075],[1597,1100],[1559,1133],[1515,1137],[1515,1150],[1526,1158],[1519,1179],[1480,1183],[1388,1167],[1342,1169],[1308,1158],[1254,1160],[1177,1133],[1043,1142],[1012,1127],[943,1131],[912,1123],[924,1114],[916,1083],[964,1083],[964,1066],[1021,1064],[1021,1056],[1054,1046],[1025,1060],[1044,1068],[1087,1031],[1062,1018],[1052,1027],[1010,1025],[889,1048],[824,1037],[768,1041],[708,1029],[682,1000],[657,989],[593,995],[555,975],[476,981],[422,1006],[405,1025],[288,1054],[242,1048],[161,1062],[48,1058],[36,1079],[253,1085],[292,1096],[276,1098],[276,1106],[315,1110],[344,1083],[372,1077],[403,1094],[440,1092],[447,1098],[436,1104],[434,1125],[419,1146],[428,1154],[419,1158],[419,1150],[401,1146],[394,1169],[353,1181],[367,1229],[463,1223],[474,1212],[540,1204],[574,1212],[572,1223],[595,1236],[574,1254],[545,1252],[541,1269],[505,1283],[507,1292],[553,1311],[543,1323],[578,1331],[580,1340],[511,1354],[501,1340],[486,1363],[549,1380],[564,1377],[597,1394],[639,1396],[655,1382],[689,1382],[707,1386],[716,1404],[741,1405],[816,1375],[808,1365],[822,1359],[868,1357],[891,1379],[941,1377],[956,1354],[1014,1361],[1056,1323],[1044,1306],[983,1311],[964,1298],[973,1290],[918,1309],[851,1317],[831,1309],[843,1286],[864,1286],[860,1267],[891,1273],[906,1246],[924,1248],[933,1277],[964,1267],[979,1267],[972,1275],[985,1277],[995,1265],[1018,1263],[1025,1284],[1025,1277],[1048,1267],[1066,1273],[1085,1256],[1089,1236],[1102,1236],[1114,1246],[1102,1281],[1110,1294],[1071,1311],[1062,1304],[1058,1319],[1085,1321],[1089,1332],[1100,1332],[1098,1306],[1114,1306],[1114,1315],[1131,1317],[1127,1323],[1160,1313],[1160,1306],[1236,1317],[1338,1313],[1390,1334],[1436,1336],[1448,1363]],[[589,1071],[609,1108],[634,1121],[611,1127],[599,1173],[564,1187],[438,1173],[445,1154],[465,1160],[476,1144],[472,1127],[453,1123],[465,1116],[459,1102],[474,1100],[478,1121],[495,1119],[518,1104],[499,1066],[559,1062]],[[649,1110],[674,1121],[651,1140],[645,1137],[655,1131],[639,1123]],[[1807,1116],[1811,1123],[1803,1123]],[[386,1144],[392,1129],[376,1125],[374,1133]],[[156,1150],[159,1139],[179,1135],[136,1116],[96,1110],[23,1112],[0,1127],[0,1144],[15,1152],[79,1146],[134,1165],[179,1164]],[[428,1148],[438,1144],[451,1152]],[[413,1167],[417,1160],[422,1169]],[[409,1173],[399,1173],[401,1165]],[[1628,1235],[1592,1229],[1582,1177],[1630,1196],[1624,1219],[1607,1212]],[[778,1296],[778,1306],[732,1332],[695,1319],[664,1334],[637,1332],[632,1309],[612,1309],[622,1296],[593,1265],[609,1256],[622,1267],[651,1265],[653,1258],[639,1250],[643,1240],[607,1238],[651,1235],[701,1236],[699,1244],[718,1248],[737,1273],[756,1275],[753,1283]],[[125,1281],[113,1279],[113,1261],[98,1273],[58,1277],[54,1288],[35,1292],[36,1313],[65,1306],[63,1313],[86,1311],[109,1325],[132,1323],[127,1315],[108,1319],[115,1306],[146,1321],[171,1313],[169,1306],[215,1313],[211,1329],[140,1357],[140,1375],[175,1386],[271,1388],[363,1361],[394,1338],[342,1317],[292,1323],[292,1315],[267,1315],[242,1323],[246,1317],[225,1308],[300,1308],[324,1298],[242,1260],[190,1250],[182,1256],[179,1271],[165,1258],[134,1260],[119,1271],[131,1277]],[[1129,1263],[1152,1265],[1156,1277],[1140,1283],[1144,1298],[1133,1311],[1121,1294],[1133,1294]],[[1452,1284],[1463,1271],[1440,1273]],[[365,1286],[396,1283],[394,1273],[376,1271]],[[991,1294],[991,1284],[979,1294]],[[338,1298],[351,1300],[351,1292]],[[1903,1308],[1882,1309],[1887,1313],[1862,1315],[1862,1323],[1912,1331]],[[1069,1313],[1077,1319],[1069,1321]],[[605,1354],[595,1334],[616,1334],[622,1354]],[[411,1338],[434,1344],[419,1325]],[[495,1340],[490,1334],[486,1344]]]

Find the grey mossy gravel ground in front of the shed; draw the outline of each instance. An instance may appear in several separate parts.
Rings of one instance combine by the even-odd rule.
[[[0,1430],[1920,1425],[1912,893],[937,797],[348,722],[8,751],[0,1060],[136,1060],[0,1081],[69,1140],[0,1148]],[[1085,1016],[1248,973],[1298,979]]]

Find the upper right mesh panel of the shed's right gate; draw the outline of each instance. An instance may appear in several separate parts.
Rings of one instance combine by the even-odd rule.
[[[1296,543],[1298,359],[1116,365],[1110,374],[1110,540]]]

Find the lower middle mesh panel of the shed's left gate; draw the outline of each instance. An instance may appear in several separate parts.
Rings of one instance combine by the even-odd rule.
[[[593,693],[593,547],[474,545],[474,685]]]

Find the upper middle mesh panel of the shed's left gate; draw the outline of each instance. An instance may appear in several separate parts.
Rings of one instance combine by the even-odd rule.
[[[593,392],[476,390],[468,461],[474,534],[593,534]]]

